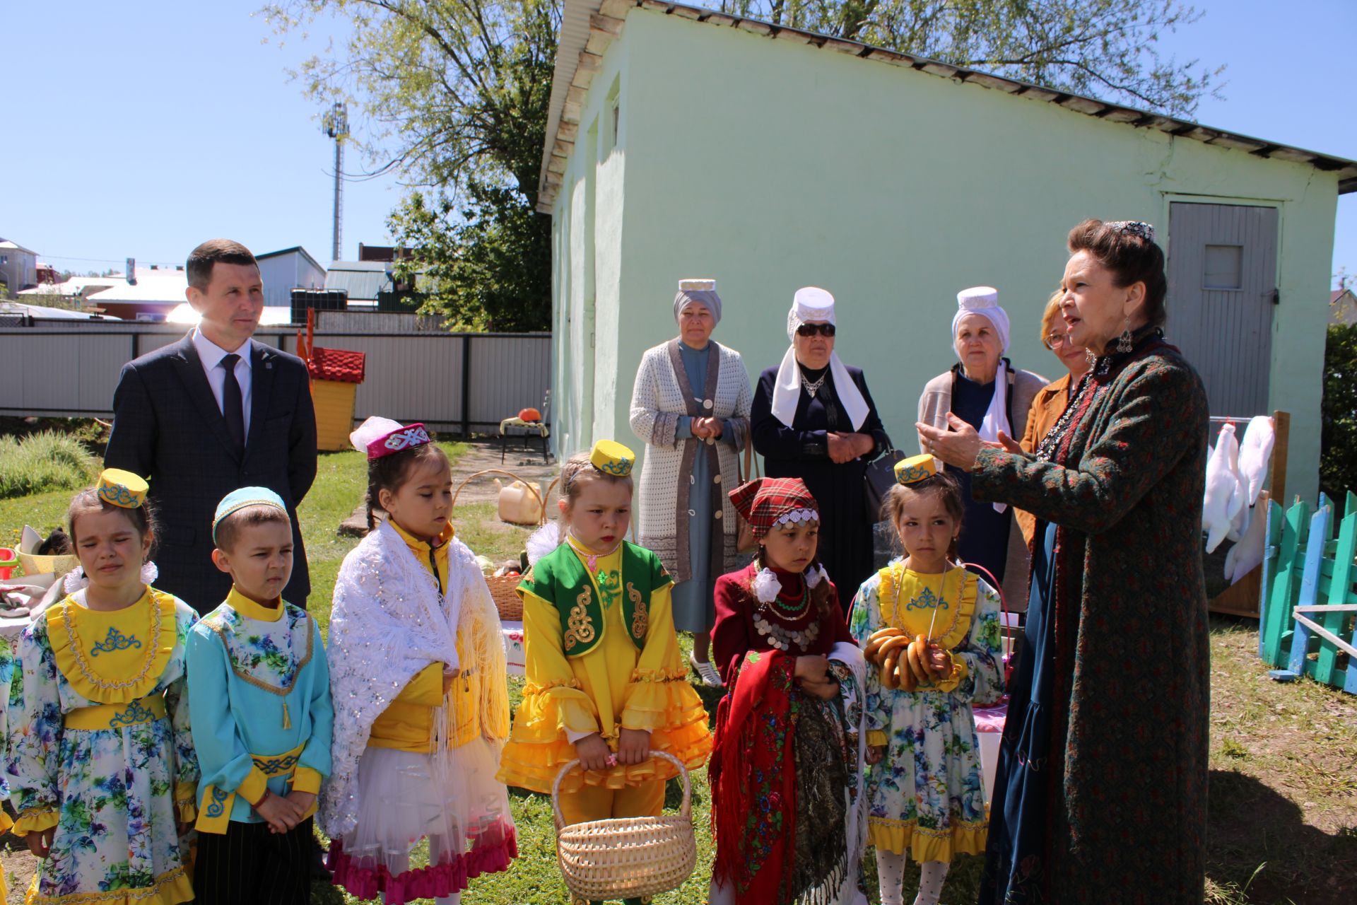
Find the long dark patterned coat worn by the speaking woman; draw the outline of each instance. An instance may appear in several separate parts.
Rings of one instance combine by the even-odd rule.
[[[1209,411],[1175,349],[1130,358],[1071,427],[1069,468],[996,449],[974,467],[977,499],[1057,525],[1053,773],[1031,901],[1202,901]]]

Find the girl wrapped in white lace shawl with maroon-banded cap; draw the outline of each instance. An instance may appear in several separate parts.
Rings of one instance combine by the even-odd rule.
[[[423,425],[369,418],[350,438],[368,453],[372,531],[339,567],[330,619],[328,866],[358,898],[456,904],[471,878],[517,856],[495,780],[509,731],[499,617],[453,537],[448,457]],[[421,839],[429,866],[411,868]]]

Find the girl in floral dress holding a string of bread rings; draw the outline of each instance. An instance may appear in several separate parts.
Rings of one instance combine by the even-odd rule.
[[[938,474],[932,456],[898,463],[896,476],[882,513],[905,556],[863,582],[849,620],[874,661],[867,668],[867,821],[882,905],[901,905],[906,856],[921,864],[915,905],[936,905],[951,859],[985,851],[970,706],[1003,692],[999,597],[955,564],[963,512],[957,479]],[[900,640],[883,642],[892,630]]]

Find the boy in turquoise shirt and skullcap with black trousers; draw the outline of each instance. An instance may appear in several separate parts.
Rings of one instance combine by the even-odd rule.
[[[189,635],[189,712],[202,779],[199,905],[307,905],[312,814],[330,772],[334,710],[320,630],[280,594],[292,520],[265,487],[227,494],[212,521],[227,600]]]

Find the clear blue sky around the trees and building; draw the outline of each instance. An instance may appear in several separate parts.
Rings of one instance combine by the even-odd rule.
[[[1179,58],[1227,64],[1197,119],[1357,159],[1349,98],[1353,0],[1201,0],[1167,35]],[[210,236],[330,258],[332,145],[285,75],[322,46],[278,46],[255,3],[9,3],[0,118],[0,236],[71,270],[182,263]],[[267,39],[267,42],[266,42]],[[361,161],[350,153],[346,170]],[[388,242],[402,187],[345,187],[343,256]],[[1334,270],[1357,274],[1357,195],[1338,202]]]

